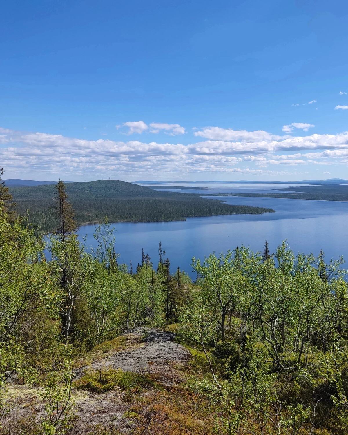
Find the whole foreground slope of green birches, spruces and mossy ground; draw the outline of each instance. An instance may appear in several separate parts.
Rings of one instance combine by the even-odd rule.
[[[43,192],[49,241],[13,204],[20,191],[12,198],[0,184],[1,434],[347,434],[342,261],[295,255],[285,242],[270,252],[266,241],[257,253],[193,258],[191,282],[160,241],[158,258],[144,247],[140,264],[120,264],[107,220],[90,253],[75,234],[82,212],[70,187]],[[171,346],[189,357],[161,373],[149,357],[151,374],[107,365],[141,352],[154,330],[176,333]]]

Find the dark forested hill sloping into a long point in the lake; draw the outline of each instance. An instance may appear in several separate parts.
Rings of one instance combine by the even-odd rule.
[[[223,214],[274,212],[263,207],[229,205],[196,194],[160,192],[118,180],[68,183],[69,200],[77,225],[110,222],[182,221],[185,218]],[[29,210],[29,222],[42,233],[54,231],[58,222],[54,211],[54,185],[10,188],[19,214]]]

